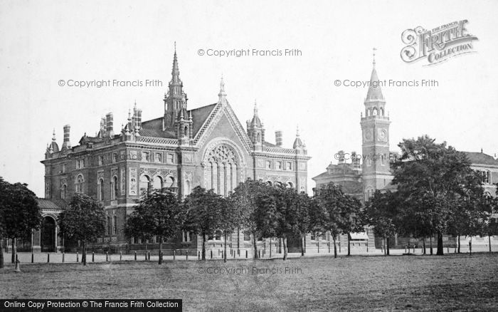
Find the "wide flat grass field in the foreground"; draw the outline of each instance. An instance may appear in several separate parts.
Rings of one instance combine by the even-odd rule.
[[[0,298],[181,298],[184,311],[497,311],[498,254],[24,264]]]

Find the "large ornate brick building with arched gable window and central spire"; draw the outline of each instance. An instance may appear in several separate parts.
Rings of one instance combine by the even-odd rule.
[[[135,103],[120,130],[115,130],[113,115],[108,113],[100,120],[97,135],[85,133],[77,145],[71,145],[70,125],[64,126],[62,145],[56,142],[54,132],[41,161],[45,166],[45,198],[39,199],[43,224],[33,233],[35,250],[75,247],[65,241],[63,233],[58,235],[57,224],[58,214],[75,193],[88,194],[105,208],[105,235],[90,249],[114,252],[157,248],[156,239],[142,241],[124,236],[127,216],[141,194],[152,189],[167,189],[183,199],[194,187],[201,186],[228,196],[250,178],[307,191],[307,162],[311,157],[299,132],[292,148],[282,146],[281,131],[275,132],[275,144],[268,142],[256,105],[243,127],[228,103],[223,78],[216,102],[189,109],[176,51],[172,67],[164,112],[159,118],[142,120],[142,110]],[[229,236],[227,244],[230,249],[251,250],[253,239],[267,251],[276,251],[280,244],[275,239],[254,238],[242,230]],[[164,249],[196,254],[201,243],[201,237],[184,232],[166,242]],[[208,238],[208,252],[222,247],[221,232]]]

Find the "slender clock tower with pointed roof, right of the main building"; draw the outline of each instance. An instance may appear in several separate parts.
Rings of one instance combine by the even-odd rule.
[[[383,189],[393,180],[389,170],[389,124],[391,122],[386,114],[386,100],[382,95],[375,68],[375,53],[373,54],[369,92],[366,93],[364,105],[365,116],[361,116],[360,123],[363,135],[362,175],[364,199],[368,200],[376,189]]]

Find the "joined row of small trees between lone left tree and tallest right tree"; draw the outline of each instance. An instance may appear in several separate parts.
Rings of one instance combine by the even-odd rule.
[[[162,241],[174,239],[181,231],[194,232],[202,239],[202,259],[206,259],[206,239],[221,231],[224,241],[244,229],[253,236],[254,257],[258,258],[258,238],[282,240],[283,259],[287,259],[287,238],[299,236],[304,254],[304,235],[329,231],[334,240],[343,233],[362,230],[361,203],[344,194],[334,184],[319,189],[314,197],[304,192],[247,180],[230,197],[212,189],[196,187],[184,202],[170,192],[153,192],[142,198],[127,218],[127,236]],[[335,245],[335,244],[334,244]],[[224,260],[226,261],[226,249]],[[337,256],[337,250],[334,249]],[[159,263],[162,262],[161,256]]]

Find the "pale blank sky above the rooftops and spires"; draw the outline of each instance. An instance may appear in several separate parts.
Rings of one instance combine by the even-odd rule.
[[[0,176],[25,182],[43,197],[40,161],[54,128],[61,146],[63,125],[69,124],[74,146],[85,132],[95,135],[106,113],[114,113],[119,131],[135,101],[142,120],[160,117],[175,41],[189,109],[216,103],[223,75],[228,102],[244,126],[255,101],[269,142],[282,130],[284,146],[292,147],[299,125],[312,156],[309,190],[312,177],[337,163],[337,151],[361,153],[359,122],[368,87],[345,81],[369,80],[374,47],[380,80],[419,82],[382,88],[391,150],[403,138],[427,134],[457,150],[494,155],[497,11],[498,1],[491,0],[1,0]],[[473,53],[433,66],[401,59],[406,29],[461,20],[477,37]],[[250,55],[233,56],[248,49]],[[277,55],[253,55],[253,49]],[[285,56],[285,49],[296,49],[296,55]],[[208,55],[215,51],[233,52]],[[88,88],[73,82],[93,80],[142,86]],[[437,85],[423,87],[422,80]]]

